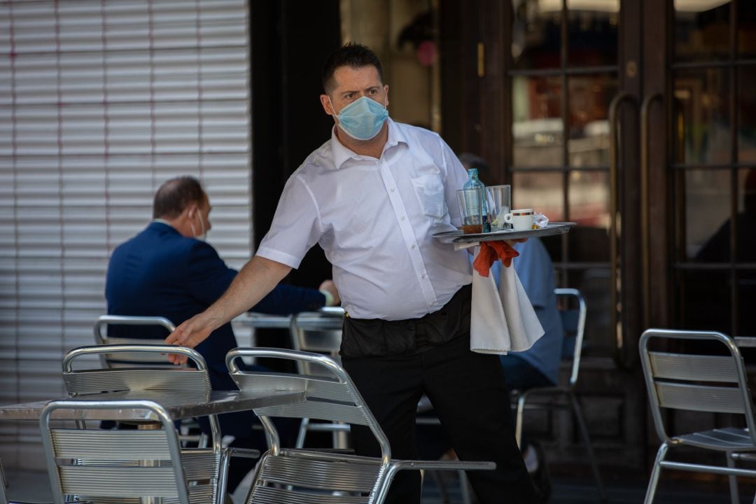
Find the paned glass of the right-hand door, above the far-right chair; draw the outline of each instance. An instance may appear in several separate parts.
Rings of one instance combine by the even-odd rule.
[[[756,5],[674,1],[675,318],[756,335]]]

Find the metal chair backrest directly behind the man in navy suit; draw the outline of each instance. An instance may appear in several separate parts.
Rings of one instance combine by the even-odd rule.
[[[166,336],[175,331],[173,323],[164,317],[135,317],[127,315],[101,315],[95,322],[95,345],[163,345],[164,339],[125,338],[113,337],[107,334],[108,326],[159,326],[166,329]],[[137,329],[135,329],[137,330]],[[110,354],[101,354],[100,360],[103,367],[123,367],[135,364],[146,364],[156,367],[173,366],[172,363],[160,354],[123,352],[117,357]]]

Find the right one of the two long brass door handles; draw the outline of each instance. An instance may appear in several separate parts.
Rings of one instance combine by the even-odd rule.
[[[640,106],[640,253],[643,265],[643,330],[651,324],[651,234],[649,221],[649,110],[662,93],[654,93]]]

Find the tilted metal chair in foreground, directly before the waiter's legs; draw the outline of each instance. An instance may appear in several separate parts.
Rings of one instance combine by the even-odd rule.
[[[291,373],[260,373],[240,370],[238,357],[268,357],[302,360],[321,366],[327,373],[303,376]],[[287,406],[258,408],[255,413],[270,440],[262,456],[246,504],[340,502],[380,504],[386,498],[396,472],[404,469],[493,469],[494,462],[427,462],[394,460],[386,434],[364,404],[360,393],[339,363],[321,354],[275,348],[236,348],[226,356],[229,373],[241,391],[304,391],[305,401]],[[311,418],[328,422],[366,425],[380,445],[382,455],[367,457],[280,446],[271,417]],[[314,495],[315,494],[315,495]]]

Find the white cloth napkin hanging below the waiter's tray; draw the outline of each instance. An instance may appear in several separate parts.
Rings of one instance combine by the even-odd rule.
[[[476,257],[479,251],[476,247]],[[498,289],[493,275],[481,277],[472,270],[470,350],[479,354],[525,351],[542,335],[544,328],[514,267],[501,268]]]

